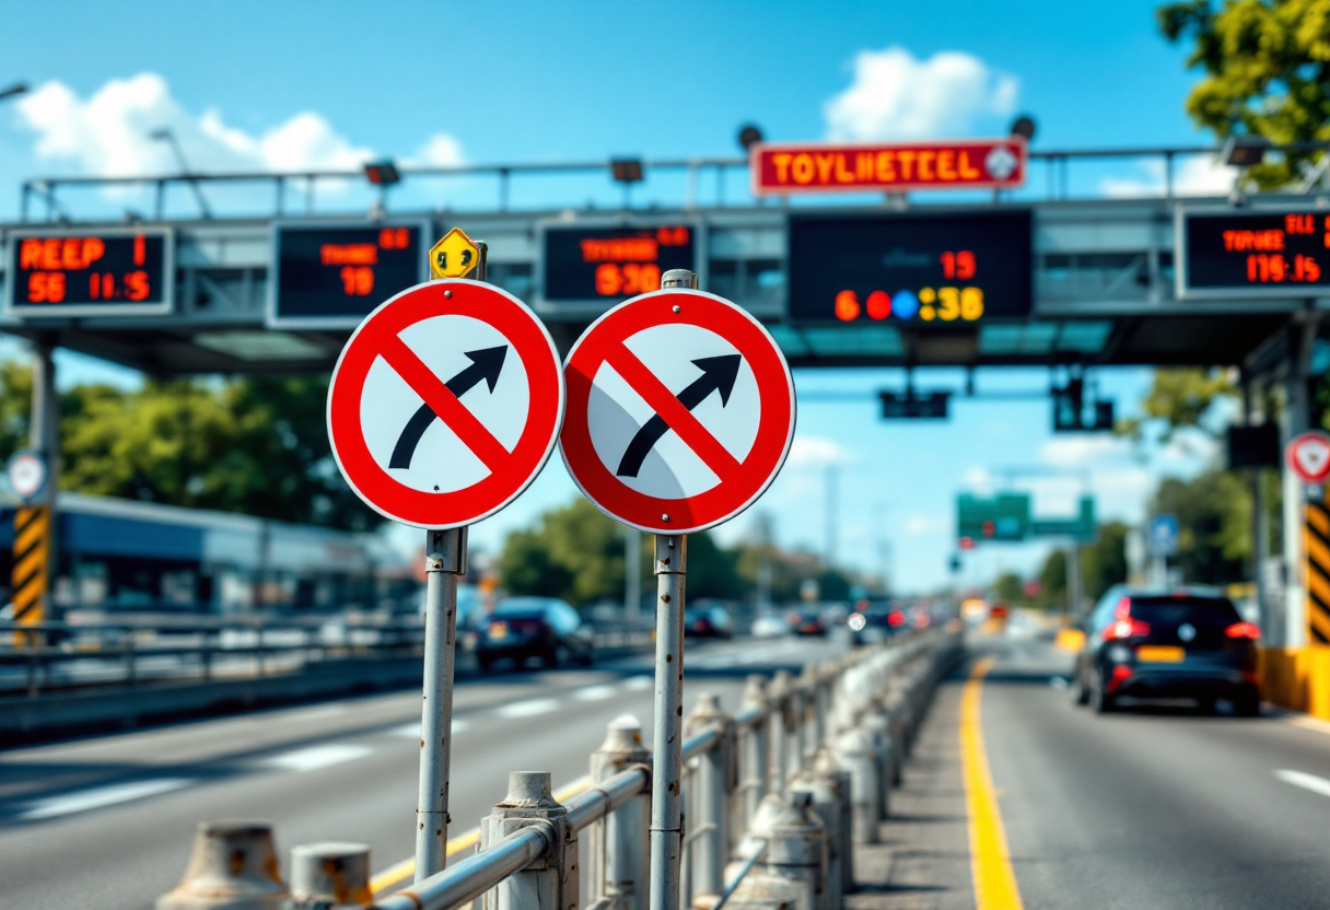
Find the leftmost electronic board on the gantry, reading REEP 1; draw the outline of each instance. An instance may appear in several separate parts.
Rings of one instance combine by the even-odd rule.
[[[25,319],[172,309],[172,233],[161,228],[12,231],[7,309]]]

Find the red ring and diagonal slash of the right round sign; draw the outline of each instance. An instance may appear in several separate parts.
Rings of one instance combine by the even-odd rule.
[[[664,384],[628,351],[624,341],[653,326],[678,323],[713,331],[738,350],[753,370],[762,411],[753,447],[739,462],[721,448],[701,424],[685,435],[685,427],[676,426],[657,408],[670,428],[721,478],[714,487],[696,496],[661,499],[633,490],[601,462],[591,439],[588,407],[592,383],[606,362],[648,404],[656,407],[646,387],[650,382],[657,386],[657,400],[661,394],[672,398]],[[601,511],[649,533],[690,533],[734,518],[771,484],[794,439],[794,380],[775,339],[746,311],[704,291],[661,290],[620,303],[593,322],[573,345],[564,363],[564,379],[568,384],[568,414],[559,447],[568,474]],[[698,444],[710,448],[712,456],[698,451]]]

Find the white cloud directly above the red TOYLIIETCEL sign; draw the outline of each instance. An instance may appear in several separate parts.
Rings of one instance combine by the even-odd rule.
[[[968,53],[919,60],[891,47],[855,56],[854,81],[826,102],[823,116],[833,140],[962,136],[1011,114],[1017,90],[1015,76]]]

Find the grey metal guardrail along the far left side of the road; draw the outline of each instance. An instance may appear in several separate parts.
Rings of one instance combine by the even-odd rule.
[[[593,648],[646,645],[650,633],[592,625]],[[0,621],[0,694],[97,685],[263,679],[346,661],[419,660],[416,616],[172,620],[162,624]]]

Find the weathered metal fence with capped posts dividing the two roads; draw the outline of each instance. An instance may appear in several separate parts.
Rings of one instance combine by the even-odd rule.
[[[833,910],[854,887],[853,845],[875,842],[888,793],[960,633],[932,631],[864,648],[799,677],[749,677],[737,714],[701,696],[685,724],[685,907]],[[293,850],[277,875],[271,829],[200,826],[181,885],[158,910],[336,907],[648,910],[652,761],[632,718],[610,724],[591,778],[560,804],[549,774],[513,772],[481,822],[477,851],[375,899],[368,847]],[[210,902],[211,901],[211,902]]]

